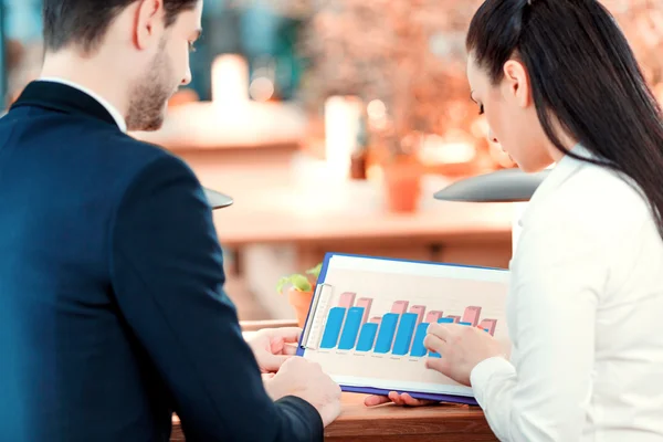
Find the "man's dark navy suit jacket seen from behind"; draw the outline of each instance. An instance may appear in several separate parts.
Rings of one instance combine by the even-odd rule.
[[[87,94],[33,82],[0,119],[0,439],[311,441],[266,394],[192,171]]]

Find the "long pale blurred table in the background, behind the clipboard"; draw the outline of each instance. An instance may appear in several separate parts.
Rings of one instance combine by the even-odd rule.
[[[379,182],[326,179],[319,165],[305,159],[290,170],[255,165],[220,173],[210,165],[192,166],[204,186],[235,201],[214,212],[219,239],[227,246],[511,241],[512,204],[436,201],[434,191],[451,182],[443,177],[424,178],[417,212],[394,213],[387,209]]]

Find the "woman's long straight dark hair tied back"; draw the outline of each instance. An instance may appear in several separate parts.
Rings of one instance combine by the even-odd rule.
[[[560,151],[631,178],[663,236],[663,123],[617,22],[596,0],[486,0],[466,39],[493,84],[517,57],[526,66],[541,126]],[[599,159],[568,151],[561,128]]]

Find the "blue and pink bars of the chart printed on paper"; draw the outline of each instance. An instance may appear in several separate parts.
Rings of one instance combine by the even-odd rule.
[[[324,328],[320,349],[338,349],[373,352],[378,355],[440,357],[427,352],[423,339],[432,323],[455,323],[480,327],[495,335],[497,319],[481,318],[481,306],[467,306],[461,315],[446,315],[443,311],[430,311],[425,305],[412,305],[408,301],[396,301],[389,313],[370,319],[372,298],[360,297],[356,293],[340,295],[336,306],[329,309]]]

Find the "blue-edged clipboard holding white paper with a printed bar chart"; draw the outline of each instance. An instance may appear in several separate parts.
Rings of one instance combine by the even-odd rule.
[[[343,391],[407,392],[417,399],[477,404],[472,389],[425,359],[432,322],[480,326],[509,352],[505,299],[509,272],[380,256],[327,253],[297,346]]]

